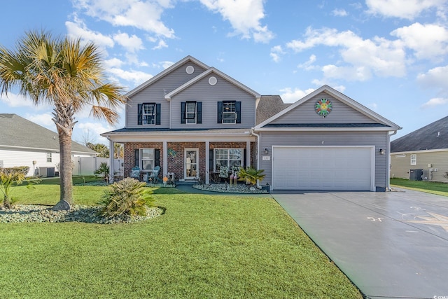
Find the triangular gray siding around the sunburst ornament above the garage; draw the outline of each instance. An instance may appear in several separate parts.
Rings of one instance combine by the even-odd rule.
[[[322,98],[329,99],[332,102],[332,111],[325,118],[319,116],[314,110],[314,105]],[[377,123],[377,121],[372,120],[372,118],[365,116],[327,93],[321,92],[316,97],[312,97],[307,102],[297,106],[296,109],[288,111],[271,123]]]

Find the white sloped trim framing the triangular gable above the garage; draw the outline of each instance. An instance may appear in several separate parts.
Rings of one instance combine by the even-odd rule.
[[[363,113],[365,116],[372,118],[373,120],[377,121],[378,123],[380,123],[380,126],[374,126],[377,127],[377,130],[400,130],[401,127],[396,125],[395,123],[392,123],[390,120],[380,116],[378,113],[368,109],[367,107],[359,104],[358,102],[356,102],[355,100],[347,97],[346,95],[344,95],[342,92],[339,92],[337,90],[335,90],[334,88],[330,88],[330,86],[328,85],[323,85],[321,86],[321,88],[318,88],[316,90],[314,90],[314,92],[311,92],[309,95],[306,95],[304,97],[302,97],[302,99],[299,99],[297,102],[295,102],[294,104],[288,106],[288,108],[283,109],[283,111],[280,111],[279,113],[276,113],[274,116],[268,118],[267,120],[263,121],[262,123],[259,123],[258,125],[255,126],[255,130],[262,130],[262,127],[265,127],[266,125],[269,125],[269,123],[271,123],[273,120],[275,120],[276,118],[279,118],[280,116],[283,116],[284,114],[288,113],[289,111],[295,109],[297,106],[300,106],[301,104],[303,104],[304,102],[307,102],[309,99],[311,99],[312,97],[318,95],[321,92],[326,92],[328,93],[328,95],[331,95],[332,97],[335,97],[336,99],[338,99],[339,101],[341,101],[342,103],[346,104],[347,106],[350,106],[352,109],[355,109],[356,111]],[[300,126],[295,126],[295,127],[300,127]],[[309,130],[309,126],[305,126],[307,128],[307,130]],[[337,126],[333,126],[333,127],[337,127]]]

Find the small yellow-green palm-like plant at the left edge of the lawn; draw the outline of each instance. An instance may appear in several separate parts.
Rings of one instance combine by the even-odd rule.
[[[10,209],[13,206],[15,200],[11,196],[13,186],[18,186],[25,181],[25,176],[29,171],[29,167],[12,167],[12,168],[0,168],[0,191],[3,193],[3,207]]]

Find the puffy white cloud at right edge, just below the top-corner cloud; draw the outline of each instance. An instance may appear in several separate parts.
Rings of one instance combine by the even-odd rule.
[[[391,35],[400,38],[419,59],[435,59],[448,53],[448,30],[440,25],[421,25],[417,22],[395,29]]]

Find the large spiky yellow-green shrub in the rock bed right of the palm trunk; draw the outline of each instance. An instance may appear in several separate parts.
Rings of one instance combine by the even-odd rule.
[[[102,216],[146,215],[146,207],[153,207],[153,198],[151,191],[145,186],[146,183],[132,178],[113,183],[99,202],[99,204],[104,204],[101,211]]]

